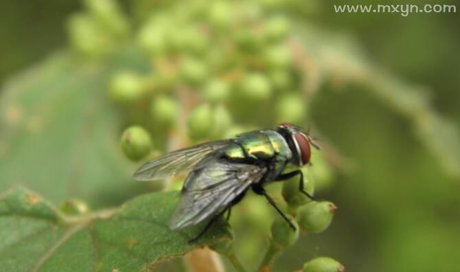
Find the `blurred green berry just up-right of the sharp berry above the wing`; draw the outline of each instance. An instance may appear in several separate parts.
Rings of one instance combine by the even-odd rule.
[[[150,114],[155,126],[171,126],[179,115],[179,105],[173,98],[160,95],[152,100]]]

